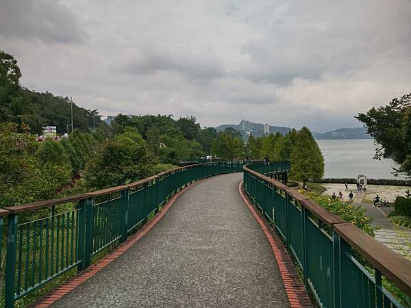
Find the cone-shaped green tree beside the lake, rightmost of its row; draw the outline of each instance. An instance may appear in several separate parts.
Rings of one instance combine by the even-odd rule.
[[[321,179],[323,175],[323,154],[310,129],[304,126],[297,132],[292,146],[290,177],[297,181],[311,181]]]

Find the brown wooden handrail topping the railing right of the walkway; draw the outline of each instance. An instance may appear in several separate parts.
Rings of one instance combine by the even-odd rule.
[[[399,289],[406,294],[411,294],[411,261],[395,253],[381,242],[378,242],[370,235],[356,227],[351,222],[336,216],[321,205],[312,201],[308,196],[297,192],[293,188],[288,188],[283,183],[276,181],[266,175],[252,170],[253,164],[243,166],[245,173],[266,181],[279,190],[284,190],[289,196],[299,201],[301,207],[310,211],[316,218],[325,222],[332,230],[340,235],[352,248],[385,277],[393,281]]]

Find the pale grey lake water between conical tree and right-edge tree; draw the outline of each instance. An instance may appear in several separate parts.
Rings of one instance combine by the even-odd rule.
[[[391,174],[396,164],[393,159],[373,159],[373,139],[316,140],[323,152],[324,177],[356,178],[365,175],[368,179],[405,179]]]

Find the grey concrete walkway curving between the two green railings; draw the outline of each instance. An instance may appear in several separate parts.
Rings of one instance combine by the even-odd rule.
[[[273,251],[238,195],[198,183],[147,235],[52,307],[290,307]]]

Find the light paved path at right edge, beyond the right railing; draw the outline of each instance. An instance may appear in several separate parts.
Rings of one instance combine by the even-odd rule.
[[[386,218],[393,207],[373,207],[372,204],[362,203],[366,208],[366,216],[373,219],[373,225],[380,229],[375,232],[375,239],[382,242],[396,253],[411,259],[411,231],[399,227]]]

